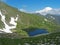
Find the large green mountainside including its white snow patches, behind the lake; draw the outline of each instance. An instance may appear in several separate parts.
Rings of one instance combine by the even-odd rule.
[[[55,32],[59,31],[60,25],[43,15],[21,12],[15,7],[0,2],[0,33],[17,33],[20,36],[29,36],[28,32],[33,30],[23,30],[26,28],[40,28]]]

